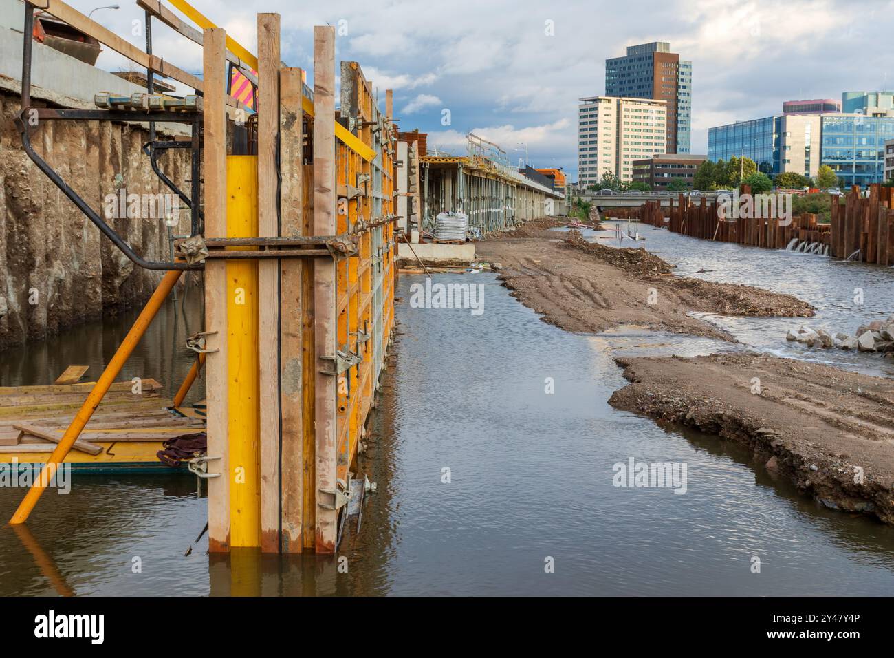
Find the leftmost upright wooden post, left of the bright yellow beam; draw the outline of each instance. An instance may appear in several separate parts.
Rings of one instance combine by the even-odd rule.
[[[206,237],[226,237],[226,106],[225,41],[220,28],[205,30],[202,50],[205,78],[204,140],[202,172],[205,179]],[[226,265],[210,259],[205,266],[205,329],[208,353],[207,441],[208,473],[220,474],[208,480],[208,550],[230,550],[230,473],[227,411],[227,300]]]

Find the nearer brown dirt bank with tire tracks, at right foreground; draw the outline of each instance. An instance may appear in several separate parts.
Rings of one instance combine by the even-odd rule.
[[[745,444],[831,508],[894,524],[894,380],[767,355],[619,358],[620,409]]]

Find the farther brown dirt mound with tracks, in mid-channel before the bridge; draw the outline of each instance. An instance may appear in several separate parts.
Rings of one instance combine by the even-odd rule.
[[[548,227],[529,222],[480,242],[477,257],[499,262],[512,294],[562,329],[597,332],[635,325],[731,340],[726,331],[687,312],[814,314],[810,304],[791,295],[674,277],[671,265],[645,250],[587,243],[577,231],[562,235]]]

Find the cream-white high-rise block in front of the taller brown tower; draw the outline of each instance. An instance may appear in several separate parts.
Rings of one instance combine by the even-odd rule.
[[[594,185],[606,170],[633,179],[633,161],[667,150],[667,101],[591,96],[578,105],[578,183]]]

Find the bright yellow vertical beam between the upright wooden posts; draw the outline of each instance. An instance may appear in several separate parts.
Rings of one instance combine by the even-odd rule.
[[[227,156],[226,181],[227,237],[256,237],[257,156]],[[226,281],[230,546],[237,548],[261,545],[257,260],[228,260]]]

